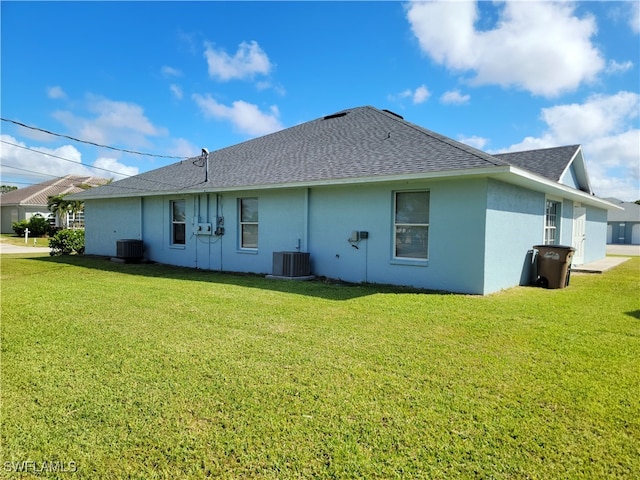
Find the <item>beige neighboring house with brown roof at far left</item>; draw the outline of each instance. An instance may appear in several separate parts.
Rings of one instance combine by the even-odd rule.
[[[29,220],[34,215],[42,215],[44,218],[49,218],[51,215],[47,208],[49,197],[81,192],[87,186],[95,187],[108,181],[105,178],[67,175],[3,193],[0,195],[1,233],[13,233],[13,222]],[[84,221],[82,212],[80,212],[79,217],[69,219],[70,222],[68,224],[71,224],[71,222],[82,223]],[[56,224],[59,224],[59,220],[56,219]]]

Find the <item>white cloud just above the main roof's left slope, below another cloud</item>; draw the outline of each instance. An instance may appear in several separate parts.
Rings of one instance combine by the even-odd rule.
[[[230,107],[216,102],[209,94],[194,94],[193,100],[205,117],[228,120],[235,129],[247,135],[266,135],[283,128],[276,106],[272,106],[269,113],[264,113],[257,105],[242,100],[233,102]]]

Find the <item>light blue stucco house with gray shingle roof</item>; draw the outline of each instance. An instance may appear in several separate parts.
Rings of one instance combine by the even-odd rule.
[[[616,208],[579,146],[489,155],[372,107],[205,154],[74,195],[86,253],[138,239],[152,261],[271,273],[300,251],[318,276],[488,294],[527,283],[545,241],[603,258]]]

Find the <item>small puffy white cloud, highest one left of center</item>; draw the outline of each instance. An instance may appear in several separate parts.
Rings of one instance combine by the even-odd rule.
[[[211,43],[205,43],[204,56],[209,76],[222,81],[252,78],[255,74],[267,75],[272,69],[269,57],[255,41],[242,42],[233,56],[224,50],[216,50]]]

